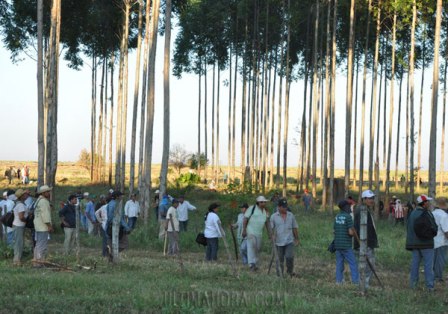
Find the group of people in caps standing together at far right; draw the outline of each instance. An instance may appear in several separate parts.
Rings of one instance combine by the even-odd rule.
[[[360,283],[358,264],[355,251],[359,251],[361,239],[361,212],[367,214],[366,230],[366,270],[364,287],[368,288],[375,271],[375,249],[378,247],[377,230],[375,227],[373,208],[375,194],[366,190],[362,192],[361,204],[354,206],[350,200],[342,200],[338,206],[340,213],[334,219],[334,245],[336,249],[336,283],[344,281],[344,262],[350,267],[351,281]],[[401,205],[395,200],[395,205]],[[395,207],[395,213],[398,206]],[[400,209],[399,209],[400,210]],[[396,216],[395,216],[396,217]],[[403,217],[399,217],[399,221]],[[404,222],[403,222],[404,224]],[[434,282],[443,282],[448,250],[448,205],[443,197],[433,199],[420,195],[416,199],[416,207],[409,206],[406,221],[406,250],[412,252],[410,267],[410,286],[417,287],[419,267],[423,261],[425,284],[428,291],[434,291]],[[359,254],[358,254],[359,255]]]

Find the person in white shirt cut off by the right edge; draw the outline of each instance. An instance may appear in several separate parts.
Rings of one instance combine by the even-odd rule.
[[[448,206],[446,198],[437,198],[436,205],[437,207],[432,212],[437,224],[437,235],[434,237],[434,279],[442,282],[443,270],[448,258],[448,214],[445,212]]]

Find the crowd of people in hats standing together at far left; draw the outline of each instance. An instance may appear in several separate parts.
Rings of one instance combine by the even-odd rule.
[[[29,190],[7,190],[0,200],[0,214],[13,212],[14,220],[11,227],[2,226],[2,235],[8,246],[14,249],[14,265],[21,265],[24,235],[26,228],[31,230],[33,264],[38,266],[45,261],[48,253],[48,240],[50,233],[54,231],[54,222],[51,215],[52,188],[47,185],[38,187],[35,198]],[[88,192],[70,194],[66,203],[61,204],[58,216],[61,228],[64,230],[64,253],[70,254],[75,245],[76,224],[79,218],[80,230],[85,230],[90,235],[100,233],[103,237],[103,256],[111,254],[111,228],[114,219],[117,200],[123,195],[118,191],[110,190],[107,195],[101,195],[95,203],[94,197]],[[140,215],[140,205],[133,193],[120,213],[120,244],[127,246],[128,234],[136,226],[137,217]],[[79,216],[77,215],[79,212]],[[122,238],[125,238],[122,241]]]

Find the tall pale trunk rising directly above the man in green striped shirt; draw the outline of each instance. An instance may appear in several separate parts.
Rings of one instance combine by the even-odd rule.
[[[355,0],[350,4],[350,34],[348,40],[347,58],[347,101],[345,112],[345,194],[349,193],[350,186],[350,142],[352,133],[352,93],[353,93],[353,45],[355,41]]]

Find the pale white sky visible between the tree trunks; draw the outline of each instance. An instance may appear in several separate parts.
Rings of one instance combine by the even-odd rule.
[[[175,34],[175,33],[174,33]],[[174,40],[174,35],[173,35]],[[159,37],[156,67],[156,109],[155,109],[155,125],[154,125],[154,159],[155,163],[160,163],[162,154],[162,137],[163,137],[163,86],[162,86],[162,48],[163,37]],[[0,44],[0,116],[2,124],[0,129],[3,130],[2,148],[0,149],[0,160],[37,160],[37,83],[36,83],[36,62],[23,56],[24,60],[18,64],[13,64],[10,59],[10,53],[6,51]],[[88,62],[86,62],[88,63]],[[361,68],[361,67],[360,67]],[[341,70],[339,70],[341,72]],[[130,149],[131,138],[131,117],[133,106],[133,90],[135,75],[135,53],[131,54],[129,61],[129,102],[128,102],[128,135],[127,149]],[[422,146],[422,165],[423,169],[427,169],[428,161],[428,144],[429,144],[429,128],[430,128],[430,101],[431,101],[431,84],[432,67],[428,69],[426,74],[426,84],[424,87],[424,112],[423,112],[423,146]],[[418,132],[418,104],[420,93],[420,76],[416,73],[415,92],[416,92],[416,132]],[[98,72],[100,77],[100,72]],[[209,68],[208,77],[210,79],[208,91],[208,123],[211,126],[211,78],[212,68]],[[81,71],[75,71],[66,66],[65,61],[61,58],[60,74],[59,74],[59,109],[58,109],[58,143],[59,143],[59,161],[76,161],[79,153],[83,148],[90,150],[90,110],[91,110],[91,72],[87,65]],[[221,81],[228,79],[228,72],[223,72]],[[360,75],[361,79],[361,75]],[[277,81],[278,82],[278,81]],[[370,81],[369,81],[370,82]],[[370,83],[368,82],[368,89]],[[100,84],[100,82],[98,82]],[[403,84],[405,86],[405,83]],[[241,87],[241,82],[238,81]],[[278,83],[277,83],[278,86]],[[336,95],[336,168],[344,167],[345,158],[345,87],[346,77],[339,74],[337,78],[337,95]],[[362,86],[360,82],[360,87]],[[439,88],[439,130],[441,129],[442,115],[442,84]],[[204,90],[204,89],[202,89]],[[240,89],[239,89],[240,90]],[[388,92],[390,87],[388,86]],[[178,80],[171,77],[171,146],[174,144],[183,145],[187,151],[196,152],[197,150],[197,106],[198,106],[198,78],[194,75],[185,74],[182,79]],[[394,112],[394,133],[396,130],[397,111],[398,111],[398,84],[396,91],[396,106]],[[401,118],[401,135],[400,135],[400,164],[404,167],[404,150],[405,150],[405,88],[403,88],[403,109]],[[99,95],[99,88],[98,88]],[[116,94],[115,94],[116,95]],[[370,91],[367,91],[367,103],[370,104]],[[389,96],[388,96],[389,99]],[[237,156],[240,155],[240,128],[241,128],[241,96],[237,100]],[[359,106],[361,105],[361,90],[358,95]],[[204,104],[204,99],[202,105]],[[227,116],[228,116],[228,88],[221,86],[221,124],[220,124],[220,163],[227,164]],[[290,122],[289,122],[289,146],[288,146],[288,165],[297,166],[298,148],[293,145],[294,139],[299,138],[299,134],[294,130],[301,123],[303,108],[303,82],[294,82],[291,86],[290,97]],[[367,107],[368,108],[368,107]],[[139,109],[140,110],[140,109]],[[369,109],[366,109],[367,112]],[[203,114],[203,113],[202,113]],[[277,113],[275,114],[277,118]],[[359,124],[361,124],[361,108],[358,110]],[[389,113],[387,114],[389,119]],[[138,118],[138,121],[140,118]],[[202,118],[203,120],[203,118]],[[365,167],[368,166],[368,132],[370,117],[367,115],[366,121],[366,151],[365,151]],[[276,123],[277,125],[277,123]],[[382,127],[381,127],[382,130]],[[382,133],[382,132],[381,132]],[[137,135],[139,134],[139,126]],[[202,149],[203,149],[203,128]],[[360,138],[360,130],[358,129],[358,140]],[[381,135],[382,136],[382,135]],[[393,139],[392,150],[392,168],[395,168],[395,139]],[[208,134],[209,158],[211,158],[211,131]],[[440,141],[440,138],[439,138]],[[353,140],[352,140],[353,143]],[[417,144],[417,143],[416,143]],[[381,144],[382,146],[382,138]],[[138,139],[137,139],[138,147]],[[382,148],[382,147],[381,147]],[[138,149],[138,148],[137,148]],[[359,144],[358,144],[359,149]],[[417,149],[417,147],[416,147]],[[440,152],[440,147],[438,146]],[[447,155],[447,154],[446,154]],[[358,153],[359,156],[359,153]],[[353,159],[353,158],[352,158]],[[359,159],[359,157],[358,157]],[[237,162],[239,163],[239,157]],[[380,161],[382,157],[380,157]],[[417,158],[415,159],[417,162]],[[438,157],[438,163],[440,158]],[[127,157],[129,161],[129,157]],[[353,160],[352,160],[353,163]],[[318,162],[318,168],[320,163]]]

